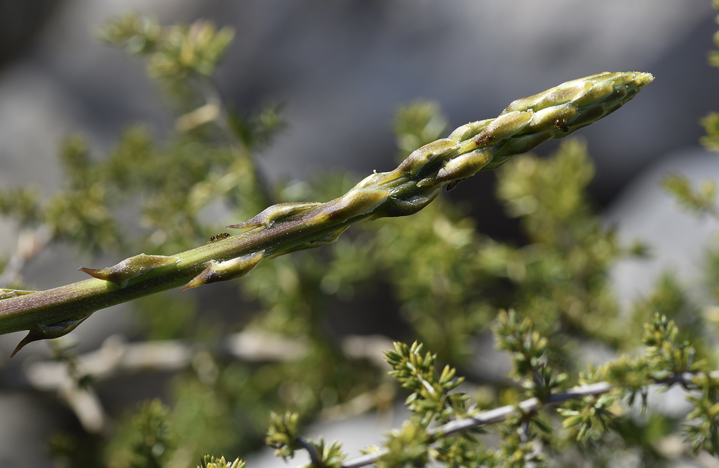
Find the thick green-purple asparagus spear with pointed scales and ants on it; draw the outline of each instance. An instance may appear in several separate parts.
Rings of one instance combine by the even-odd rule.
[[[139,254],[93,278],[0,300],[0,334],[29,330],[18,345],[67,334],[89,314],[162,290],[194,288],[247,275],[265,257],[334,242],[362,219],[420,211],[442,185],[498,168],[513,155],[561,138],[626,104],[654,78],[599,73],[513,101],[495,119],[463,125],[419,148],[398,168],[375,173],[326,203],[279,203],[232,227],[249,229],[173,256]],[[12,295],[12,294],[11,294]]]

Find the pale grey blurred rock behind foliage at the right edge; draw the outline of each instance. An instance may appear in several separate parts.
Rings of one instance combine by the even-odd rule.
[[[661,188],[672,173],[695,186],[719,180],[719,156],[700,147],[673,153],[633,180],[609,209],[605,219],[617,227],[620,242],[645,242],[651,253],[649,260],[622,260],[613,269],[615,291],[625,306],[649,295],[665,272],[690,288],[701,286],[707,249],[717,247],[719,221],[695,216]]]

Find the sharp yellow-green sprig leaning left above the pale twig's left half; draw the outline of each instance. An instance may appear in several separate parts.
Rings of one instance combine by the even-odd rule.
[[[394,351],[385,352],[386,360],[393,369],[390,375],[403,388],[412,390],[405,404],[409,410],[419,413],[424,426],[433,418],[446,422],[464,413],[467,395],[449,393],[464,381],[464,377],[455,377],[456,369],[447,364],[438,376],[434,368],[436,354],[427,352],[422,356],[422,344],[416,341],[411,347],[395,342],[394,348]]]

